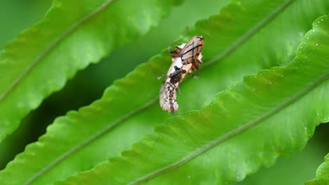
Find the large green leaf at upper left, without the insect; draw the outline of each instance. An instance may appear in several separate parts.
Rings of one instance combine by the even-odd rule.
[[[146,34],[178,1],[55,0],[0,53],[0,141],[79,69]]]

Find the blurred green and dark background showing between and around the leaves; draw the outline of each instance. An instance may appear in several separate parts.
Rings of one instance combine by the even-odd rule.
[[[69,110],[77,110],[98,100],[108,85],[117,78],[122,78],[136,65],[146,62],[148,58],[159,53],[184,32],[186,26],[192,27],[196,20],[208,18],[219,12],[226,1],[203,0],[184,1],[174,7],[168,18],[159,27],[152,29],[146,36],[136,42],[113,51],[98,64],[91,64],[79,71],[75,78],[65,85],[63,90],[48,97],[41,106],[32,111],[22,121],[20,128],[0,144],[0,170],[12,160],[17,153],[24,150],[30,142],[46,132],[46,126],[57,116],[63,116]],[[51,0],[2,0],[0,1],[0,48],[15,38],[15,35],[44,17],[51,6]],[[193,11],[193,15],[182,12]],[[182,25],[181,22],[184,22]],[[164,27],[173,29],[162,29]],[[164,71],[159,71],[161,74]],[[155,78],[150,74],[150,78]],[[316,129],[314,137],[307,147],[289,158],[280,158],[271,168],[262,167],[256,174],[236,184],[302,184],[313,179],[316,168],[323,162],[329,152],[329,125],[322,124]]]

